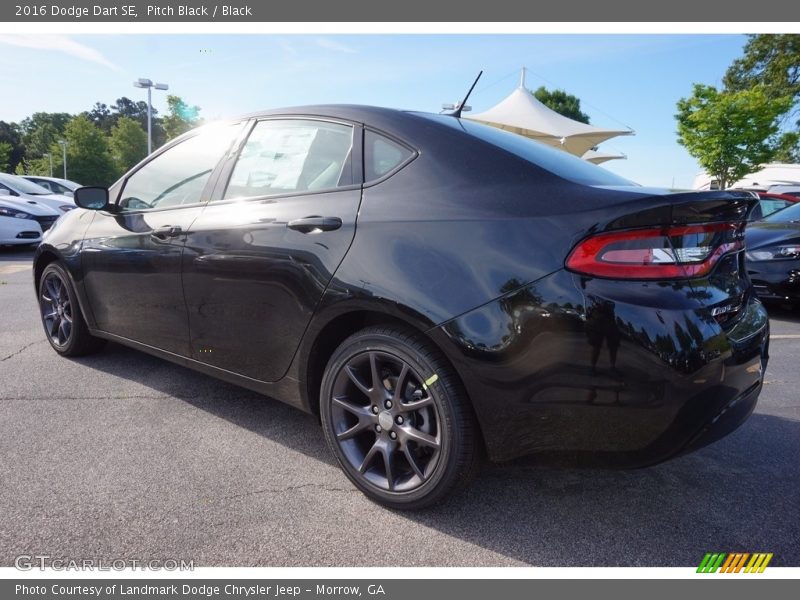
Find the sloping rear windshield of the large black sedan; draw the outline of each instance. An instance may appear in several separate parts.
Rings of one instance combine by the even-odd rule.
[[[450,127],[460,128],[478,139],[488,142],[498,148],[510,152],[520,158],[550,171],[563,179],[574,181],[583,185],[637,185],[624,177],[615,175],[602,167],[593,165],[569,152],[558,150],[541,142],[529,138],[476,123],[468,119],[456,119],[447,115],[431,115],[418,113],[419,116],[435,120]]]

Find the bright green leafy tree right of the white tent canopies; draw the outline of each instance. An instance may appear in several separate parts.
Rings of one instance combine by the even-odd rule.
[[[762,86],[718,91],[695,84],[678,101],[678,142],[726,188],[775,155],[779,117],[791,98],[770,98]]]

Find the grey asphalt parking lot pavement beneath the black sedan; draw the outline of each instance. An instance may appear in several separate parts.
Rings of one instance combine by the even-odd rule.
[[[764,391],[725,439],[639,470],[487,465],[402,513],[350,485],[311,416],[116,344],[58,357],[31,256],[0,249],[2,566],[691,566],[709,551],[800,566],[800,310],[770,309]]]

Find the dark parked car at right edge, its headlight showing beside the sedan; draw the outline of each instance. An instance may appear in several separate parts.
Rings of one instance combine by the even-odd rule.
[[[747,227],[747,273],[765,300],[800,303],[800,204]]]

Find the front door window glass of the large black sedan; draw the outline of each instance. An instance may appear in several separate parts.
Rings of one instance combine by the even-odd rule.
[[[211,172],[240,129],[238,123],[210,127],[157,156],[125,182],[120,207],[146,210],[200,202]]]

